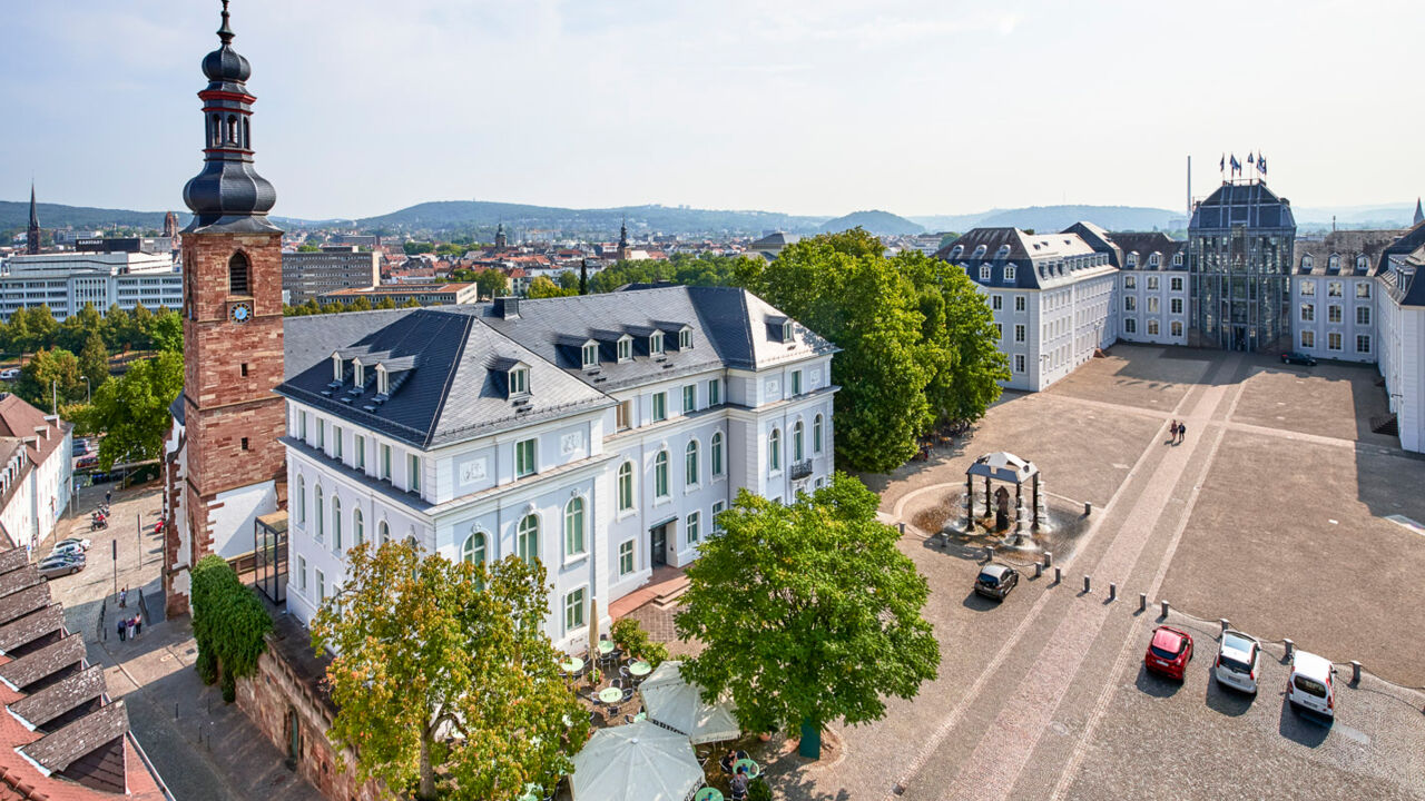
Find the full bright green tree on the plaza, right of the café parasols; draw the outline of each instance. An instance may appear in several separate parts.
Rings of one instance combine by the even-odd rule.
[[[730,693],[745,730],[801,727],[805,757],[825,724],[881,720],[885,697],[913,698],[940,664],[929,584],[878,503],[842,473],[791,505],[742,490],[688,567],[675,624],[705,648],[683,674]]]

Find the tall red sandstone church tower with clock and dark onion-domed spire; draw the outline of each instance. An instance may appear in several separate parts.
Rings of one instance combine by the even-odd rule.
[[[286,473],[285,406],[272,393],[282,381],[282,232],[266,218],[276,192],[252,165],[252,68],[232,50],[227,0],[218,38],[198,93],[204,165],[184,187],[194,215],[182,231],[187,465],[164,573],[175,614],[187,610],[192,564],[251,550],[254,519],[278,509]]]

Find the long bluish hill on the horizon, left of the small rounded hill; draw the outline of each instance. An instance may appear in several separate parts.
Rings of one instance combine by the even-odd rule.
[[[459,231],[493,228],[503,222],[506,229],[556,229],[564,234],[589,234],[604,239],[618,237],[618,225],[663,234],[748,234],[789,231],[814,234],[825,217],[795,217],[772,211],[715,211],[667,205],[627,205],[616,208],[559,208],[490,201],[433,201],[422,202],[358,219],[366,229],[400,231]]]

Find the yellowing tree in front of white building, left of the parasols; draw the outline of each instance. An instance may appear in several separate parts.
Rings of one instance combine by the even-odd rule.
[[[504,801],[553,787],[587,738],[544,634],[544,567],[423,554],[412,543],[348,552],[349,579],[312,621],[326,670],[333,743],[358,775],[393,791]]]

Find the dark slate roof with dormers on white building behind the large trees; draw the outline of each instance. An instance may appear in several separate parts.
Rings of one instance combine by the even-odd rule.
[[[1029,234],[1019,228],[973,228],[935,252],[965,269],[970,281],[989,288],[1052,289],[1109,272],[1107,264],[1083,237],[1073,231]],[[980,281],[980,267],[989,265],[989,281]],[[1005,279],[1005,268],[1015,267],[1015,278]]]

